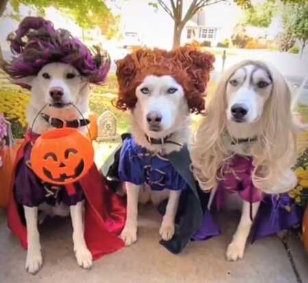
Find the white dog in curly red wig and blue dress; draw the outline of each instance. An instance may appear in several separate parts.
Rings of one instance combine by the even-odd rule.
[[[126,245],[137,241],[138,198],[153,204],[168,199],[159,234],[162,245],[175,254],[201,225],[187,144],[190,114],[205,110],[213,63],[211,53],[190,46],[172,51],[138,49],[116,62],[115,106],[130,110],[131,136],[125,136],[107,180],[125,182],[127,219],[120,237]],[[176,232],[177,212],[183,207]]]

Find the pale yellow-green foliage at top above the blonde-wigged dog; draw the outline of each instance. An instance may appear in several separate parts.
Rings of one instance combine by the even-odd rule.
[[[277,1],[258,3],[245,11],[242,23],[244,25],[253,25],[254,27],[269,27],[277,11]]]

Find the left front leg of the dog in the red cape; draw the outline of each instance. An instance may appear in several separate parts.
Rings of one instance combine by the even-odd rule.
[[[26,270],[31,273],[37,273],[42,267],[42,253],[40,251],[40,234],[38,233],[38,208],[23,206],[25,211],[25,221],[27,225],[27,260]]]

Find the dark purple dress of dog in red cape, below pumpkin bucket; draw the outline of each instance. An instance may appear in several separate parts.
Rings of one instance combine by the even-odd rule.
[[[85,198],[84,190],[78,182],[74,184],[73,195],[68,195],[64,186],[43,183],[29,165],[31,148],[30,142],[25,145],[25,154],[16,165],[14,196],[18,204],[34,207],[44,202],[51,206],[63,202],[66,206],[73,206]]]

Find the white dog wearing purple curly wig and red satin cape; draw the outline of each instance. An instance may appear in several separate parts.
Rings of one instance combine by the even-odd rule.
[[[68,190],[68,186],[42,182],[31,168],[30,156],[36,139],[51,129],[65,126],[86,132],[89,85],[105,81],[109,57],[99,48],[90,51],[68,31],[55,29],[40,17],[23,19],[8,40],[15,57],[4,62],[3,69],[12,82],[31,90],[27,109],[31,127],[17,153],[8,225],[27,249],[27,271],[36,273],[42,266],[38,212],[70,214],[77,263],[89,269],[93,259],[124,246],[117,235],[125,222],[123,200],[110,193],[94,164]],[[45,157],[54,166],[64,167],[63,172],[75,153],[66,150],[61,162],[56,152]],[[46,172],[53,177],[53,171]]]

